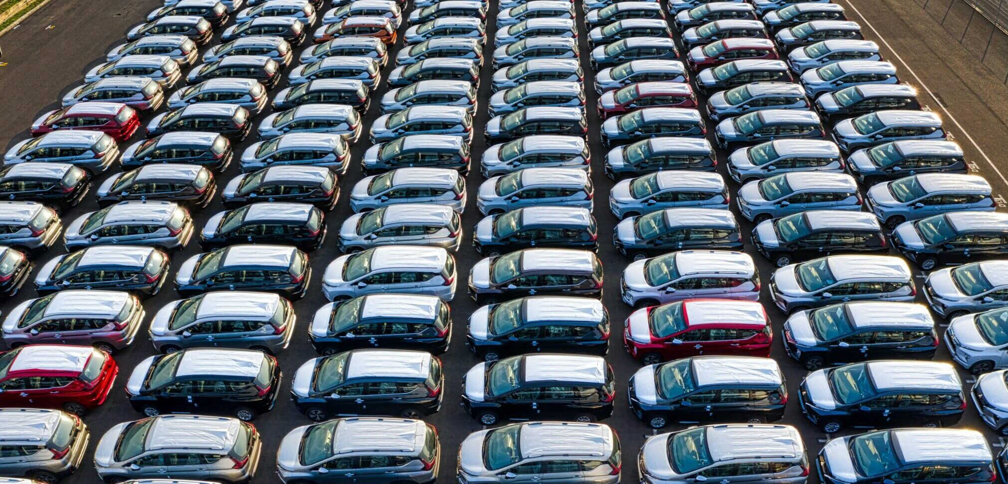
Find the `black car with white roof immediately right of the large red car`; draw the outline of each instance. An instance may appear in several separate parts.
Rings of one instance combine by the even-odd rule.
[[[798,311],[784,323],[787,355],[813,370],[866,359],[931,359],[934,320],[920,304],[854,301]]]

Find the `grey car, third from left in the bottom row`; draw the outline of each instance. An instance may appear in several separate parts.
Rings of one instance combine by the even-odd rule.
[[[285,483],[426,484],[442,460],[437,431],[418,420],[357,417],[298,427],[280,442],[276,474]]]

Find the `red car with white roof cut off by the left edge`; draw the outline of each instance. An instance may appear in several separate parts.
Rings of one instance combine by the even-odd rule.
[[[0,354],[0,407],[84,415],[105,401],[119,366],[91,346],[30,344]]]

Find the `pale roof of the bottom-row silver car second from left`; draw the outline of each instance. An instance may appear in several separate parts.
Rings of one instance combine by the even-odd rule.
[[[144,451],[186,449],[223,451],[234,445],[241,421],[224,417],[155,417]]]

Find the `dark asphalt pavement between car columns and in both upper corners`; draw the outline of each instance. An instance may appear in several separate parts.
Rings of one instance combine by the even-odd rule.
[[[1008,101],[1006,101],[1008,100],[1008,90],[984,67],[971,63],[970,54],[959,46],[957,39],[942,30],[914,2],[901,0],[836,1],[848,8],[849,17],[852,20],[862,23],[868,38],[882,44],[883,55],[886,59],[896,63],[901,79],[920,89],[923,95],[922,99],[928,108],[943,117],[947,128],[954,133],[956,139],[966,149],[968,159],[974,163],[975,169],[986,176],[995,187],[996,193],[999,194],[999,201],[1003,206],[1004,196],[1008,194],[1008,180],[1005,179],[1005,174],[1008,174],[1008,166],[1002,161],[1005,148],[1008,146],[1008,126],[1004,121],[1008,118]],[[0,37],[0,44],[3,45],[4,52],[2,61],[6,62],[4,65],[0,65],[0,140],[3,141],[3,145],[9,147],[28,137],[28,128],[31,123],[42,113],[57,108],[57,102],[61,96],[72,88],[80,86],[83,83],[84,73],[89,68],[104,61],[109,48],[125,41],[124,33],[126,30],[142,21],[147,12],[157,6],[160,6],[160,2],[157,0],[51,2],[24,20],[16,29]],[[581,59],[586,71],[585,87],[588,98],[586,111],[590,126],[589,140],[594,166],[593,181],[596,187],[594,214],[599,222],[599,239],[602,241],[599,256],[605,268],[603,302],[614,323],[611,335],[612,343],[606,359],[616,371],[617,392],[619,393],[617,395],[618,405],[613,417],[604,423],[612,426],[622,440],[624,482],[634,482],[637,479],[637,452],[644,440],[654,432],[639,422],[625,405],[626,383],[633,372],[640,367],[640,364],[624,351],[621,342],[622,322],[631,312],[631,308],[620,300],[619,277],[629,260],[620,256],[610,243],[612,230],[618,221],[607,206],[609,189],[613,182],[603,174],[601,169],[607,150],[602,146],[599,138],[601,121],[595,110],[598,95],[592,88],[594,71],[588,62],[590,49],[580,3],[576,5],[576,10],[581,34],[579,36]],[[410,9],[407,8],[404,11],[408,12]],[[484,58],[488,58],[493,50],[492,39],[496,31],[494,27],[496,13],[497,0],[490,0],[487,34],[488,39],[491,40],[489,45],[485,47]],[[405,28],[405,25],[402,26],[400,32],[404,31]],[[214,40],[214,43],[219,42],[220,29]],[[299,52],[303,48],[304,46],[297,47],[295,51]],[[401,48],[401,40],[392,49],[392,58],[399,48]],[[296,64],[296,60],[294,64]],[[392,67],[393,65],[386,67],[384,74],[387,75]],[[464,227],[467,230],[466,238],[457,256],[461,278],[465,278],[470,268],[480,259],[470,245],[469,237],[472,233],[472,227],[481,218],[475,206],[475,193],[484,179],[475,163],[478,163],[477,155],[481,154],[487,147],[483,138],[483,128],[489,120],[487,104],[492,94],[490,90],[492,71],[488,60],[480,75],[483,82],[479,87],[480,106],[476,116],[472,146],[474,169],[467,177],[470,196],[469,205],[463,217]],[[281,82],[281,85],[285,85],[285,82]],[[275,91],[278,89],[274,90],[271,96],[275,94]],[[373,92],[373,97],[380,99],[386,91],[383,82]],[[706,100],[702,99],[701,101],[703,103]],[[377,105],[378,103],[372,103],[370,112],[364,117],[365,127],[370,127],[378,116]],[[258,122],[268,113],[269,110],[256,117],[255,121]],[[144,118],[144,122],[147,120],[149,120],[149,115]],[[709,132],[712,133],[712,141],[713,129],[714,125],[710,124]],[[123,144],[123,147],[142,138],[141,130],[132,140]],[[239,144],[236,147],[236,156],[253,141],[249,139]],[[321,290],[322,276],[325,267],[340,255],[336,249],[335,235],[340,223],[352,213],[346,202],[346,197],[349,188],[363,177],[358,160],[367,148],[367,137],[362,136],[362,141],[353,147],[350,171],[340,180],[343,192],[340,203],[336,209],[327,213],[330,236],[322,249],[309,255],[314,267],[313,280],[310,282],[307,296],[294,303],[298,316],[295,327],[296,336],[291,341],[290,347],[278,355],[284,374],[280,401],[272,412],[260,416],[254,422],[262,434],[265,444],[258,473],[254,479],[256,483],[279,482],[273,472],[273,467],[276,447],[280,439],[294,427],[310,423],[287,400],[287,387],[294,370],[303,361],[316,356],[316,352],[308,342],[306,326],[316,309],[327,303]],[[719,153],[719,158],[722,160],[726,156],[727,154],[724,152]],[[218,175],[219,185],[223,186],[227,180],[238,174],[237,165],[238,163],[233,163],[225,173]],[[118,167],[110,173],[102,175],[100,179],[110,176],[115,171],[118,171]],[[726,175],[724,163],[719,166],[719,171]],[[732,182],[729,183],[734,192],[738,186]],[[98,183],[95,186],[98,186]],[[93,195],[89,194],[80,206],[64,213],[64,220],[69,222],[77,216],[97,208],[98,205]],[[207,208],[195,212],[194,218],[197,227],[202,227],[212,214],[222,209],[224,207],[218,197]],[[739,219],[744,221],[741,216]],[[743,223],[743,233],[748,233],[751,228],[751,223]],[[751,251],[751,248],[747,248],[747,250]],[[192,243],[184,251],[172,255],[172,267],[177,268],[182,261],[199,252],[201,252],[199,245],[195,241]],[[66,251],[61,247],[56,247],[37,257],[36,261],[41,265],[65,253]],[[772,274],[773,268],[758,255],[755,256],[755,259],[764,280],[766,280]],[[174,277],[173,271],[171,277]],[[922,281],[922,276],[920,276],[918,283]],[[771,356],[780,362],[787,378],[788,389],[794,396],[797,384],[801,381],[805,371],[784,354],[780,343],[780,325],[784,320],[784,315],[771,303],[769,294],[765,293],[765,287],[766,285],[764,285],[761,301],[764,302],[768,314],[773,319],[774,335],[777,340],[773,344]],[[35,297],[34,291],[30,285],[26,285],[15,297],[0,302],[0,311],[6,313],[16,304],[33,297]],[[166,285],[161,294],[145,301],[144,306],[148,319],[157,309],[175,299],[178,299],[178,296]],[[923,302],[922,296],[920,296],[919,302]],[[448,483],[455,479],[456,455],[459,444],[469,433],[482,429],[482,426],[459,407],[462,376],[470,367],[480,362],[464,345],[466,320],[477,308],[477,305],[467,296],[465,288],[460,285],[457,298],[451,306],[456,327],[449,351],[440,356],[446,370],[445,405],[440,412],[426,419],[437,428],[440,436],[442,462],[438,481],[442,483]],[[152,354],[155,354],[155,350],[150,345],[146,331],[142,331],[130,348],[115,355],[115,359],[121,367],[120,377],[110,393],[108,401],[85,417],[85,422],[93,432],[92,451],[98,439],[109,428],[120,422],[142,417],[134,412],[126,400],[124,385],[132,368],[140,360]],[[935,359],[951,361],[943,344],[939,346]],[[972,375],[964,371],[962,378],[966,382],[967,388],[965,389],[968,389],[974,381]],[[804,438],[809,453],[815,453],[822,447],[827,436],[802,417],[797,405],[794,405],[797,401],[796,398],[792,397],[791,401],[792,405],[788,406],[785,418],[779,423],[797,427]],[[984,431],[995,446],[996,452],[1000,452],[1003,447],[1003,441],[999,440],[995,433],[981,422],[976,410],[972,408],[972,404],[957,427]],[[666,431],[680,428],[670,426]],[[864,431],[849,429],[845,430],[843,435]],[[809,479],[816,480],[814,473]],[[64,482],[71,484],[100,482],[93,469],[90,454],[85,459],[82,468],[73,476],[65,479]]]

